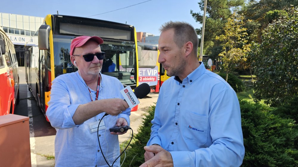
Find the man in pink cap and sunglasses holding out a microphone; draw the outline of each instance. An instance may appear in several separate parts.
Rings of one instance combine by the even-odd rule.
[[[78,68],[75,73],[59,75],[52,82],[51,99],[46,111],[56,128],[56,167],[108,166],[119,156],[118,135],[109,132],[115,125],[129,125],[130,108],[123,100],[122,83],[100,73],[105,53],[100,37],[80,36],[72,40],[70,59]],[[97,127],[104,114],[105,119]],[[117,159],[114,166],[119,166]]]

